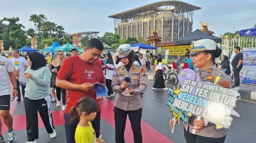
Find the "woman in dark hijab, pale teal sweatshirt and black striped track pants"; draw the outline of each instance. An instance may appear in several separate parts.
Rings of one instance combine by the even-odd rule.
[[[43,54],[28,52],[28,65],[25,76],[30,78],[25,88],[24,106],[27,125],[27,141],[35,142],[38,139],[38,114],[39,112],[44,127],[51,138],[56,137],[53,126],[53,116],[50,111],[51,95],[50,82],[51,71],[45,65]],[[19,72],[13,74],[19,79]]]

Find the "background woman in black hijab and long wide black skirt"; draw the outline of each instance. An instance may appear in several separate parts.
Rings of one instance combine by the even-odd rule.
[[[165,88],[164,85],[164,77],[163,77],[163,65],[162,65],[162,57],[158,57],[157,58],[157,64],[156,64],[156,77],[155,77],[155,82],[154,85],[152,87],[152,89],[156,90],[157,88]]]

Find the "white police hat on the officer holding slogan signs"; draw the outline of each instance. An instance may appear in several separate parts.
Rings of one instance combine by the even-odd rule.
[[[190,55],[193,55],[206,50],[216,50],[217,44],[211,39],[201,39],[201,40],[193,41],[191,46],[192,46],[192,49],[191,49]]]

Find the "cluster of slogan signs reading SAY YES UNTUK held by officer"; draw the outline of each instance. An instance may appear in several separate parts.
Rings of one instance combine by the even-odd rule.
[[[192,114],[197,116],[197,120],[203,117],[205,125],[211,122],[216,125],[217,129],[228,129],[232,121],[230,115],[239,117],[239,114],[233,110],[236,101],[240,99],[239,93],[237,93],[239,87],[228,89],[217,85],[221,79],[220,76],[215,77],[214,83],[201,81],[199,74],[195,75],[194,71],[189,68],[183,69],[178,79],[182,86],[175,89],[174,93],[179,94],[177,96],[169,94],[175,98],[171,110],[175,112],[173,115],[176,118],[179,119],[179,115],[184,114],[180,119],[188,123],[186,117]],[[169,99],[171,98],[168,97],[167,102]],[[180,110],[180,114],[175,111],[177,109]]]

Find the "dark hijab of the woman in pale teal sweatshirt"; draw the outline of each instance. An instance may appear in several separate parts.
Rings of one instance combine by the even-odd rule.
[[[32,62],[32,65],[30,67],[30,69],[32,70],[37,70],[41,67],[46,66],[45,64],[45,57],[43,54],[40,54],[38,52],[28,52],[28,57],[30,59],[30,61]]]

